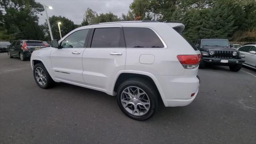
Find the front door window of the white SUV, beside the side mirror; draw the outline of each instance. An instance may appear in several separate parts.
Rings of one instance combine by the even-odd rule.
[[[89,29],[78,30],[68,37],[66,37],[62,42],[62,48],[84,48],[84,43]]]

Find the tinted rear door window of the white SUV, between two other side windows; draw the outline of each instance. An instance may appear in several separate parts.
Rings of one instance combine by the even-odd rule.
[[[91,48],[123,48],[123,35],[120,28],[96,28]]]

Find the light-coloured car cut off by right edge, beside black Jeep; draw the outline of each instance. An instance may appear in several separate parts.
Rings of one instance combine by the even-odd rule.
[[[242,46],[238,51],[245,55],[244,65],[256,68],[256,44]]]

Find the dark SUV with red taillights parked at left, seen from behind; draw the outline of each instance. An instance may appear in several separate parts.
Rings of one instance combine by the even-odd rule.
[[[46,45],[39,40],[14,40],[8,50],[9,58],[17,57],[24,61],[30,58],[34,50],[45,48]]]

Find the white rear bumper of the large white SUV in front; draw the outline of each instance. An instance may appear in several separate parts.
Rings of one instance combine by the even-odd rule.
[[[156,76],[164,96],[165,106],[186,106],[198,93],[200,80],[198,76]],[[194,94],[194,96],[191,96]]]

